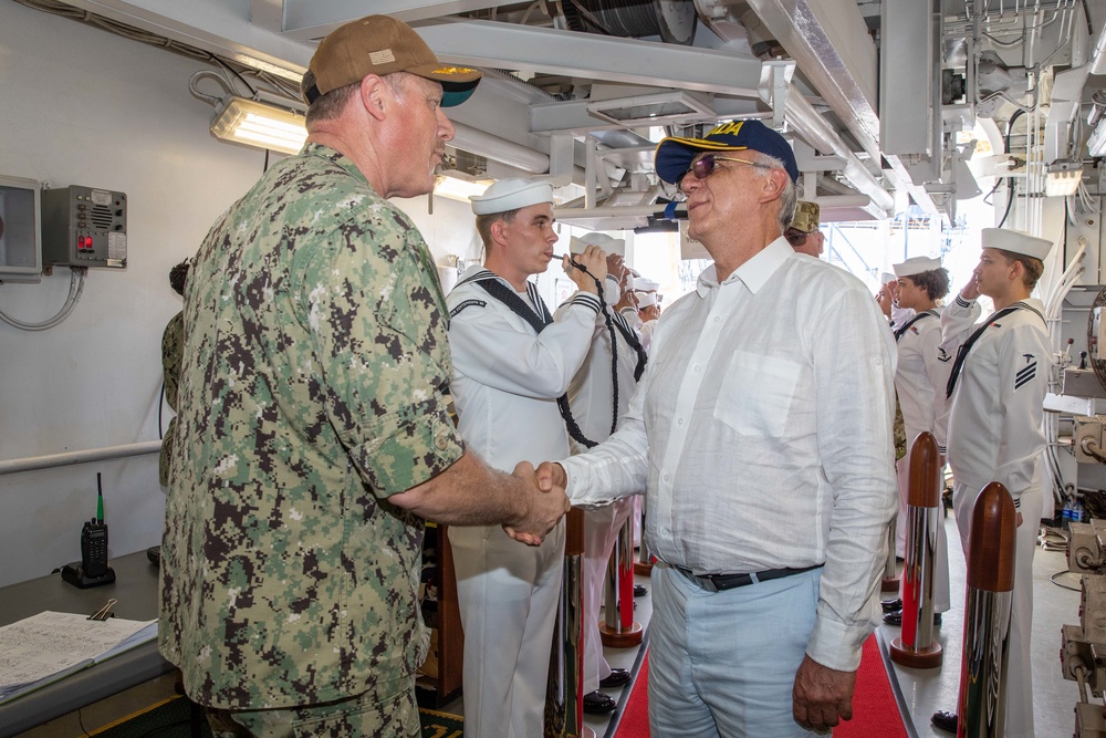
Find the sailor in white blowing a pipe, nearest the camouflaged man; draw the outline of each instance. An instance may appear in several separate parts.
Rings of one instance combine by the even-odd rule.
[[[554,322],[528,281],[545,271],[557,241],[549,184],[502,179],[471,200],[486,259],[446,300],[450,388],[466,444],[511,470],[567,454],[559,398],[587,354],[599,301],[593,279],[566,260],[580,292]],[[605,278],[602,250],[588,247],[576,260]],[[450,528],[449,542],[465,631],[465,735],[541,736],[564,521],[536,548],[499,527]]]

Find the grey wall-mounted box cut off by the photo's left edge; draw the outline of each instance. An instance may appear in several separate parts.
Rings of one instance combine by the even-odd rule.
[[[0,282],[41,279],[39,183],[0,176]]]

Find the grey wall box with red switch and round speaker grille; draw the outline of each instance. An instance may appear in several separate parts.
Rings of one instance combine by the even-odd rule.
[[[42,190],[42,263],[127,266],[127,196],[92,187]]]

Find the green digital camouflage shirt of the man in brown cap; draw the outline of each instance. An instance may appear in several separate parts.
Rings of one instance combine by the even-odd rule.
[[[422,237],[310,144],[212,227],[185,320],[158,640],[187,694],[286,708],[413,680],[422,520],[387,497],[462,454]]]

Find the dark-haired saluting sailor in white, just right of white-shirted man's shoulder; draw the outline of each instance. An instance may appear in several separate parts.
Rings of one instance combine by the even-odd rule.
[[[930,433],[941,451],[943,468],[949,382],[949,364],[939,356],[941,345],[941,309],[937,301],[949,293],[949,273],[941,268],[940,259],[915,257],[894,266],[898,277],[898,304],[914,315],[895,329],[898,349],[898,368],[895,372],[895,392],[898,394],[906,428],[907,454],[895,468],[898,476],[899,514],[896,526],[896,549],[901,554],[906,548],[906,529],[910,482],[910,448],[922,433]],[[938,423],[941,418],[941,423]],[[942,506],[943,507],[943,506]],[[948,612],[949,542],[943,522],[937,526],[937,549],[933,561],[933,612]],[[884,615],[884,622],[902,624],[901,597],[897,612]],[[886,610],[885,605],[885,610]]]

